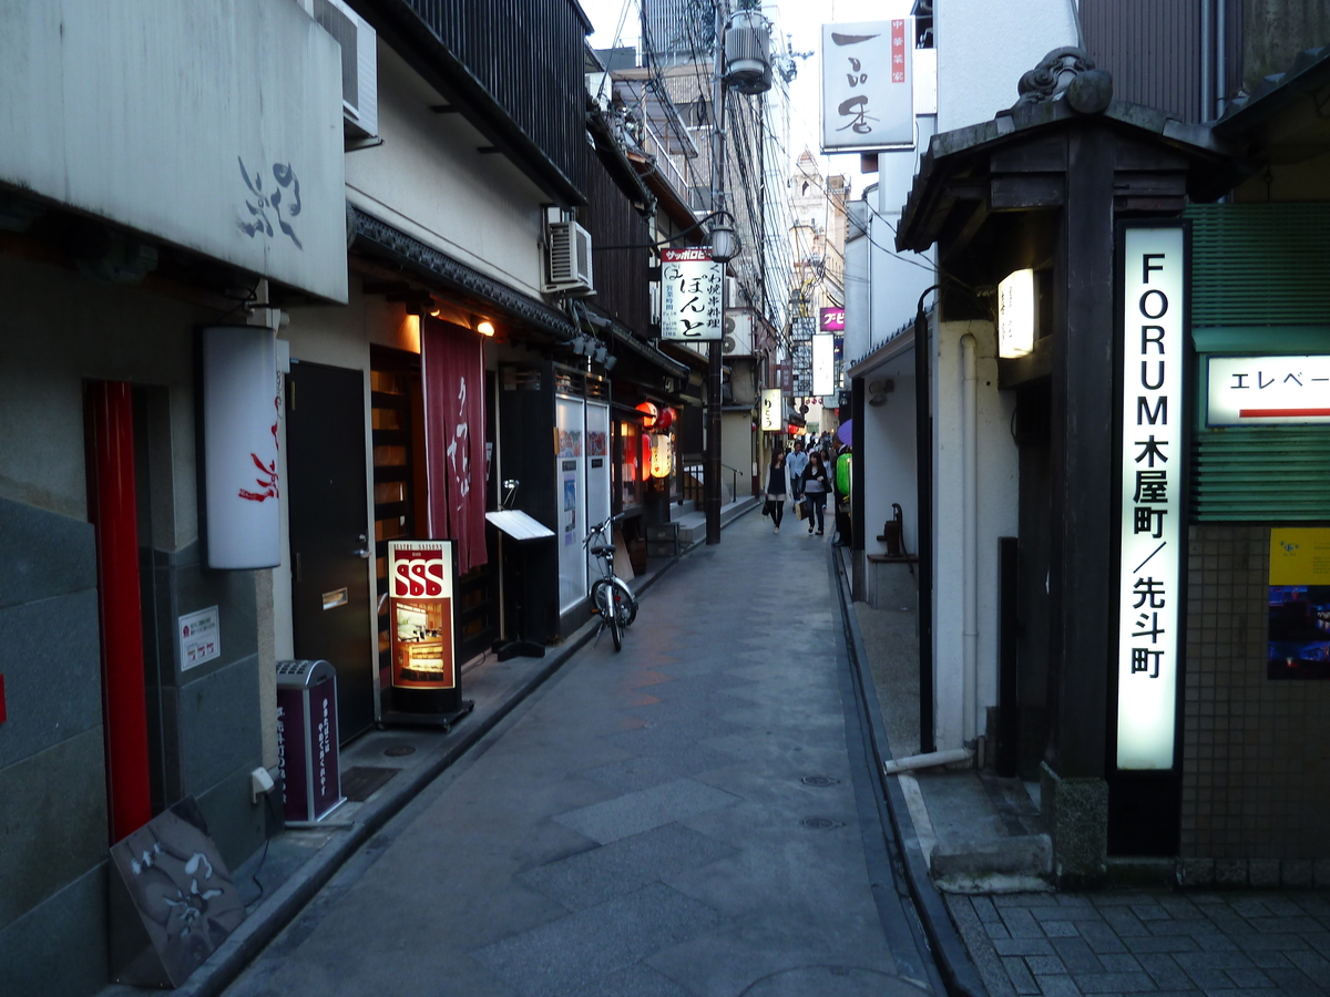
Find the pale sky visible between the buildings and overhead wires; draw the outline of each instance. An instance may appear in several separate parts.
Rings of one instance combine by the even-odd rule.
[[[583,9],[596,27],[591,36],[595,48],[636,45],[640,35],[641,13],[638,0],[580,0]],[[732,4],[733,5],[733,4]],[[798,76],[790,84],[790,167],[793,160],[807,148],[818,157],[823,174],[845,173],[850,177],[851,197],[857,197],[875,174],[859,173],[859,157],[819,154],[822,134],[822,24],[842,21],[880,21],[910,13],[910,0],[782,0],[763,3],[762,12],[775,24],[773,48],[789,44],[795,52],[811,52],[809,58],[797,58]],[[626,9],[626,15],[625,15]],[[622,32],[616,29],[622,19]]]

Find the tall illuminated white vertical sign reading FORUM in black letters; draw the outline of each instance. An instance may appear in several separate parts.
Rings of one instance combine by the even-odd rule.
[[[1182,621],[1186,235],[1124,229],[1117,767],[1173,768]]]

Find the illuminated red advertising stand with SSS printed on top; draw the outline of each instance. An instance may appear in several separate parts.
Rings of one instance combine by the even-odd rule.
[[[386,724],[450,727],[471,713],[458,682],[451,540],[388,541],[391,703]]]

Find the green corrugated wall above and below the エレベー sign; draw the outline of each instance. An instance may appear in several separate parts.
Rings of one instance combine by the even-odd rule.
[[[1330,205],[1193,205],[1192,327],[1248,327],[1242,352],[1283,354],[1297,327],[1330,326]],[[1257,330],[1266,327],[1262,340]],[[1228,352],[1228,351],[1225,351]],[[1205,384],[1205,354],[1198,354]],[[1204,407],[1202,407],[1204,408]],[[1229,427],[1198,420],[1194,521],[1330,520],[1330,425]]]

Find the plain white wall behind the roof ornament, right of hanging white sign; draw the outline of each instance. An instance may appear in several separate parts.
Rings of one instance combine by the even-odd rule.
[[[934,20],[938,130],[991,120],[1016,102],[1016,84],[1052,49],[1076,45],[1075,0],[946,0]]]

